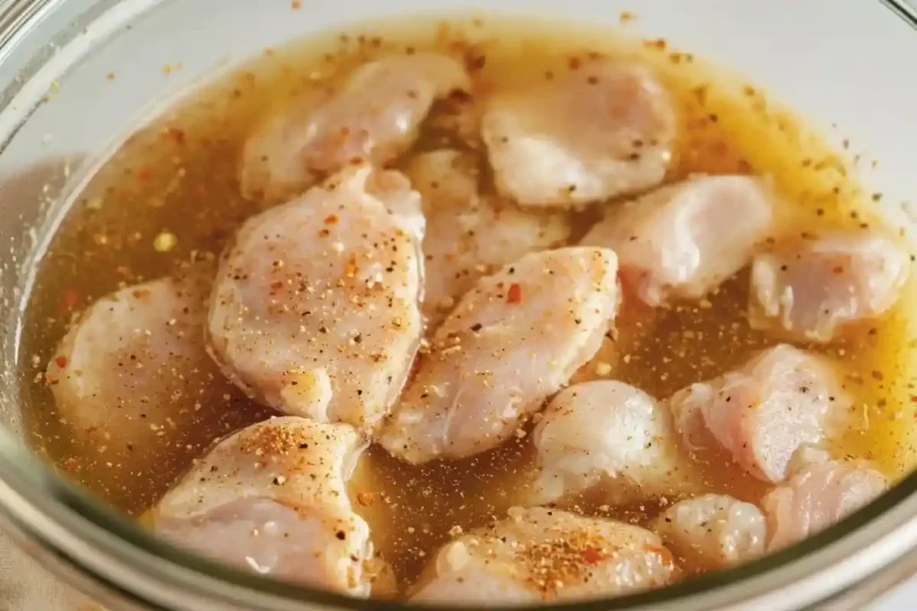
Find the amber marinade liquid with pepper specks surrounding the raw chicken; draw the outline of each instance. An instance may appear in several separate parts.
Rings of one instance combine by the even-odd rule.
[[[258,203],[238,193],[238,158],[249,129],[272,104],[309,88],[334,86],[359,62],[420,49],[466,61],[479,95],[498,85],[525,85],[581,70],[583,61],[596,55],[646,61],[680,103],[682,129],[670,180],[693,172],[768,176],[791,202],[781,228],[787,234],[877,223],[873,194],[860,191],[842,159],[792,115],[753,85],[668,49],[662,40],[486,18],[365,27],[269,50],[130,136],[89,182],[40,264],[21,344],[20,362],[32,364],[21,372],[22,395],[30,441],[62,473],[137,516],[209,444],[267,417],[268,410],[225,380],[194,380],[207,397],[197,425],[157,438],[157,447],[140,449],[149,453],[148,463],[138,463],[130,455],[138,449],[128,450],[124,443],[87,447],[73,441],[41,373],[76,312],[119,287],[218,254],[238,224],[259,212]],[[413,152],[466,147],[437,121],[449,112],[445,104],[436,107]],[[480,148],[470,150],[481,154]],[[592,217],[579,218],[581,235]],[[154,248],[162,234],[175,238],[168,252]],[[606,342],[598,360],[612,366],[609,377],[657,398],[741,366],[777,343],[749,328],[747,289],[743,271],[701,302],[650,311],[625,301],[617,339]],[[837,359],[845,387],[856,398],[853,424],[837,440],[835,453],[871,459],[892,476],[914,463],[911,292],[882,320],[849,330],[829,347],[811,346]],[[577,380],[597,377],[596,368],[584,368]],[[761,496],[762,486],[723,457],[694,458],[704,465],[711,491],[752,502]],[[524,492],[531,460],[527,437],[492,453],[420,467],[372,447],[352,480],[351,497],[370,521],[377,549],[407,587],[450,533],[505,516]],[[602,507],[583,499],[580,508],[641,523],[670,500]]]

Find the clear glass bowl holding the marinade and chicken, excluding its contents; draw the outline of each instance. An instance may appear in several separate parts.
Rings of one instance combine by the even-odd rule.
[[[903,205],[917,193],[911,167],[917,81],[909,77],[917,57],[917,14],[903,2],[300,4],[293,11],[289,0],[0,2],[0,524],[52,573],[113,611],[403,608],[281,584],[177,550],[55,475],[23,439],[17,374],[19,359],[27,357],[17,349],[22,306],[34,263],[70,195],[127,134],[176,96],[265,47],[354,21],[418,12],[471,9],[618,27],[622,12],[631,11],[637,16],[631,32],[666,38],[746,75],[838,147],[850,138],[880,159],[878,167],[862,170],[863,182],[885,193],[892,223],[917,227]],[[181,70],[162,70],[178,64]],[[116,80],[105,78],[110,72]],[[829,600],[860,608],[917,565],[915,516],[917,474],[911,474],[842,523],[757,562],[646,594],[545,608],[776,611]]]

